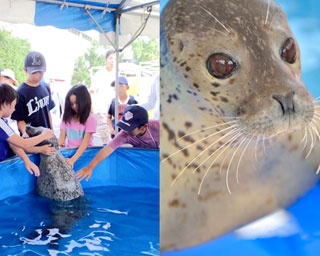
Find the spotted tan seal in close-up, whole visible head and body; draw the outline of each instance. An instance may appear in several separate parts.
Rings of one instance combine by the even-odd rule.
[[[164,251],[305,194],[318,180],[320,116],[274,1],[169,1],[160,26]]]

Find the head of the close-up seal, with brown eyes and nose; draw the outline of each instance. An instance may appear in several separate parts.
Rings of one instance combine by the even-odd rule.
[[[270,6],[268,5],[270,2]],[[163,43],[198,107],[238,120],[242,132],[301,129],[313,102],[300,79],[300,52],[273,1],[171,1]]]

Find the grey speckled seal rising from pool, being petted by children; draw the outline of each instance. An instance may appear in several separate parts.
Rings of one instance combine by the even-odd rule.
[[[26,132],[30,137],[40,134],[43,127],[27,125]],[[53,155],[40,154],[40,176],[37,178],[37,193],[56,201],[68,201],[83,196],[83,190],[75,172],[67,164],[58,147],[54,136],[39,145],[52,144],[56,150]]]

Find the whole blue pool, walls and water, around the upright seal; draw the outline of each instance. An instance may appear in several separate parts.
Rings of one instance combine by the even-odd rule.
[[[75,171],[100,149],[87,149]],[[159,150],[117,149],[81,182],[85,196],[68,202],[37,196],[18,157],[0,171],[1,255],[159,255]]]

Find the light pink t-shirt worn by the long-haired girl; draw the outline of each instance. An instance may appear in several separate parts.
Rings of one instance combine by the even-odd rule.
[[[82,143],[85,133],[95,133],[97,130],[97,120],[90,113],[87,122],[83,125],[75,122],[73,119],[70,123],[61,122],[60,129],[66,131],[66,147],[79,147]],[[89,146],[92,146],[93,136],[90,138]]]

